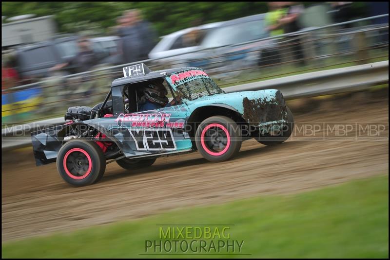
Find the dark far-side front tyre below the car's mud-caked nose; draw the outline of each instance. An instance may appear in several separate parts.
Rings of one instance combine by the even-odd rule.
[[[265,135],[256,138],[256,140],[265,145],[276,145],[280,144],[290,138],[292,130],[294,129],[294,117],[288,106],[287,107],[287,123],[283,124],[281,131],[277,134],[267,133]]]

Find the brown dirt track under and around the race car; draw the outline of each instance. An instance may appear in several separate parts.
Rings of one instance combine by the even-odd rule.
[[[172,208],[220,203],[260,193],[292,193],[389,171],[388,99],[321,102],[298,122],[383,122],[380,140],[302,139],[266,147],[245,141],[239,155],[210,163],[199,153],[157,159],[128,173],[107,165],[103,179],[73,188],[56,164],[35,167],[32,149],[2,156],[2,239],[132,219]],[[294,110],[292,110],[294,111]],[[321,136],[321,130],[316,135]],[[387,139],[386,139],[387,138]]]

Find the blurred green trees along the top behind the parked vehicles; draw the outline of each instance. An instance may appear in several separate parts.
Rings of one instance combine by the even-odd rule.
[[[356,12],[365,8],[361,2],[356,6]],[[197,19],[204,24],[268,11],[267,2],[1,2],[1,16],[55,15],[62,33],[74,33],[73,25],[80,22],[83,30],[90,22],[107,33],[124,10],[133,8],[142,10],[160,36],[188,28]]]

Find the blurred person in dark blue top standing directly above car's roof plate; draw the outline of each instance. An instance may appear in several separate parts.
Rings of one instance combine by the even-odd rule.
[[[151,24],[141,19],[137,9],[125,11],[117,21],[120,23],[117,34],[121,37],[123,62],[147,59],[156,43],[156,33]]]

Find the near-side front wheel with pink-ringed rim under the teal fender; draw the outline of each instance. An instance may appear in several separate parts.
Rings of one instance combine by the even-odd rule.
[[[195,143],[200,154],[209,161],[226,161],[241,148],[242,138],[236,122],[224,116],[204,120],[196,130]]]

